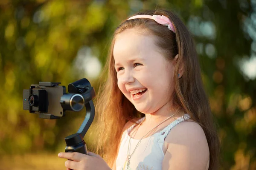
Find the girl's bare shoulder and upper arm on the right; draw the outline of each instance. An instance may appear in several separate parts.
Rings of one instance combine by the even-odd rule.
[[[166,136],[167,151],[163,170],[206,170],[209,146],[203,128],[192,120],[183,121]]]

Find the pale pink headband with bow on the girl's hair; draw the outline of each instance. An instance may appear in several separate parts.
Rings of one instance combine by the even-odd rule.
[[[157,23],[159,23],[163,26],[167,26],[169,30],[171,30],[172,32],[175,33],[175,29],[174,29],[174,26],[173,26],[171,20],[169,20],[169,18],[166,16],[163,16],[163,15],[135,15],[133,17],[128,18],[128,20],[132,20],[132,19],[136,19],[136,18],[148,18],[148,19],[155,20]]]

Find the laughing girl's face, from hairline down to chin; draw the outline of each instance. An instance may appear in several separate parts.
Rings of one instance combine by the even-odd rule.
[[[167,61],[154,36],[127,29],[116,36],[113,57],[120,91],[141,113],[169,104],[174,64]]]

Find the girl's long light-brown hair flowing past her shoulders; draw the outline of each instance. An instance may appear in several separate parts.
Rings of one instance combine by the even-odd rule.
[[[122,94],[117,86],[114,68],[113,46],[117,34],[128,28],[137,28],[157,37],[156,45],[163,51],[169,61],[179,54],[175,73],[183,65],[183,75],[174,78],[175,90],[172,94],[172,108],[188,113],[201,125],[207,138],[210,151],[209,170],[218,169],[219,139],[212,119],[209,100],[204,91],[201,69],[192,35],[183,22],[172,12],[164,9],[139,12],[137,14],[164,15],[169,17],[175,26],[175,33],[150,19],[124,20],[114,32],[105,70],[108,77],[100,87],[96,101],[96,126],[99,137],[96,138],[95,152],[100,154],[112,166],[118,153],[118,144],[125,123],[142,117],[134,105]],[[137,15],[135,14],[135,15]],[[134,122],[135,123],[135,122]],[[103,126],[103,128],[102,128]]]

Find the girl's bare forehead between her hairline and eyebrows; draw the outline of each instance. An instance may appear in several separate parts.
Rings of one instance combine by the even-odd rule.
[[[127,57],[145,57],[157,51],[156,37],[138,31],[132,28],[116,35],[113,47],[115,61]]]

